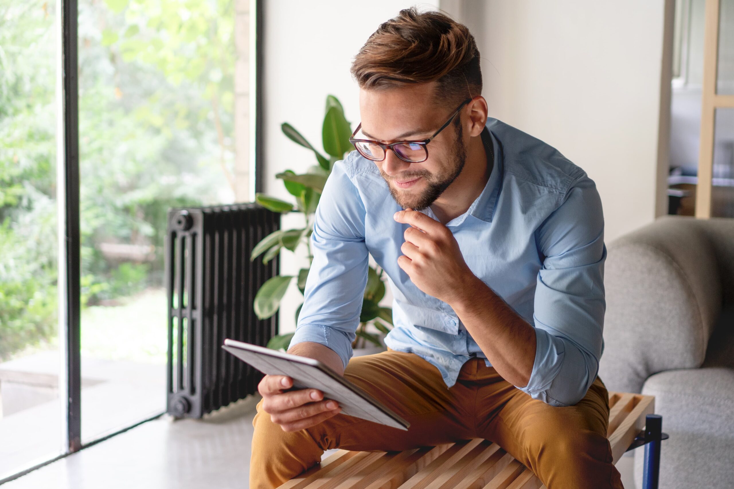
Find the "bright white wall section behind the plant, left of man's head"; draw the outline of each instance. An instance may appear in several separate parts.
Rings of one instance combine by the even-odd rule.
[[[437,6],[437,1],[263,1],[266,194],[292,202],[275,174],[285,169],[305,172],[316,164],[312,152],[283,136],[280,124],[289,122],[321,149],[324,102],[331,94],[341,100],[347,119],[356,128],[360,120],[359,92],[349,73],[352,59],[380,23],[414,4],[429,10]],[[282,224],[284,229],[303,225],[297,216],[284,216]],[[290,251],[283,251],[280,260],[281,273],[297,273],[305,263],[305,257],[294,257]],[[280,306],[280,332],[295,330],[294,314],[302,298],[295,283],[291,284]],[[383,304],[390,301],[388,293]]]

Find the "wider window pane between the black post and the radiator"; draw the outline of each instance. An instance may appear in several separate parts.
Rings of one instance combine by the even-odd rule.
[[[165,409],[168,208],[247,201],[240,13],[222,0],[79,2],[83,442]]]

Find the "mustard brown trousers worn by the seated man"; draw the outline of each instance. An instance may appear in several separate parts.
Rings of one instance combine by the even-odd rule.
[[[472,438],[501,446],[548,489],[622,489],[606,438],[608,393],[598,377],[584,399],[561,408],[532,399],[479,358],[462,365],[451,388],[428,361],[390,348],[352,358],[344,378],[410,422],[408,431],[338,413],[288,433],[261,400],[252,421],[250,489],[277,488],[327,449],[390,452]]]

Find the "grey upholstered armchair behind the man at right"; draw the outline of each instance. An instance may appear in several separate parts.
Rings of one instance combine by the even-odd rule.
[[[599,375],[655,395],[660,487],[734,487],[734,219],[658,218],[608,245],[604,283]]]

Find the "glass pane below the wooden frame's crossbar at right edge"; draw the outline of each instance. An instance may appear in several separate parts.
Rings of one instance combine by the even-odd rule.
[[[716,109],[711,216],[734,217],[734,109]]]

